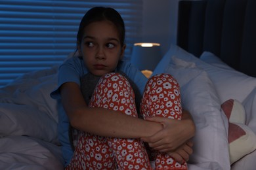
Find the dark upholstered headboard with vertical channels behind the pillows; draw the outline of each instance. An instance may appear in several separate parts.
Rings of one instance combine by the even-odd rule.
[[[256,1],[179,1],[177,45],[197,57],[212,52],[256,76]]]

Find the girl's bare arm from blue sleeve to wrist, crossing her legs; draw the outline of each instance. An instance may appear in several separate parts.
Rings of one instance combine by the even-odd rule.
[[[121,138],[151,136],[163,129],[158,122],[134,118],[110,109],[87,107],[79,86],[74,82],[62,84],[60,94],[70,124],[76,129]]]

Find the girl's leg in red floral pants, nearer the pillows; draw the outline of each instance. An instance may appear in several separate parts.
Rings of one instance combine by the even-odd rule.
[[[181,120],[182,107],[179,84],[171,75],[160,74],[148,80],[144,91],[140,112],[143,117],[162,116]],[[186,163],[180,164],[168,154],[151,151],[156,160],[156,169],[187,169]]]

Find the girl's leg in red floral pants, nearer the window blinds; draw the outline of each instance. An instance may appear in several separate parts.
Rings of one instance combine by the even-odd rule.
[[[90,107],[119,110],[137,117],[135,94],[128,80],[118,73],[100,78]],[[151,169],[144,144],[139,139],[98,137],[81,132],[72,163],[85,169]],[[72,161],[73,161],[72,160]],[[83,163],[85,162],[85,163]]]

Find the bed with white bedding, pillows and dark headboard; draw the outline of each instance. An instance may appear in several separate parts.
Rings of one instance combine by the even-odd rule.
[[[256,1],[179,1],[177,44],[153,75],[170,73],[196,123],[189,169],[255,169]],[[58,65],[0,88],[0,169],[63,169]]]

